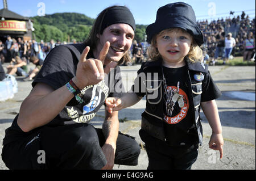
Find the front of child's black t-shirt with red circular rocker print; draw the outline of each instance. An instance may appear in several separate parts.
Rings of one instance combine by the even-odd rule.
[[[192,107],[188,98],[187,68],[166,68],[163,66],[164,86],[163,112],[166,140],[170,146],[191,146],[197,140],[192,121]]]

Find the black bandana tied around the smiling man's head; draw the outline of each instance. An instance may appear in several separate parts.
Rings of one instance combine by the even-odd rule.
[[[129,24],[135,31],[136,24],[131,11],[125,6],[117,6],[106,11],[101,25],[101,34],[106,27],[117,23]]]

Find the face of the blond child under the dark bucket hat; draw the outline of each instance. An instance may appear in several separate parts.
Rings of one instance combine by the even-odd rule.
[[[184,65],[184,57],[187,56],[192,36],[180,28],[171,28],[160,32],[156,36],[156,48],[168,65]]]

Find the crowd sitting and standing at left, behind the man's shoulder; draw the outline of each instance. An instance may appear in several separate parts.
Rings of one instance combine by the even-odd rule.
[[[14,39],[7,36],[7,40],[3,43],[0,40],[0,61],[1,64],[9,63],[6,66],[6,74],[24,76],[23,81],[32,81],[43,65],[44,59],[51,49],[61,44],[60,40],[51,40],[49,43],[40,43],[34,39],[27,41],[21,37]],[[28,64],[35,65],[34,69],[28,70]]]

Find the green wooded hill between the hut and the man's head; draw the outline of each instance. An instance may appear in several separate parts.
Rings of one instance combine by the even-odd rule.
[[[84,41],[94,21],[84,14],[75,12],[34,16],[31,19],[34,20],[34,36],[37,41],[51,39]]]

